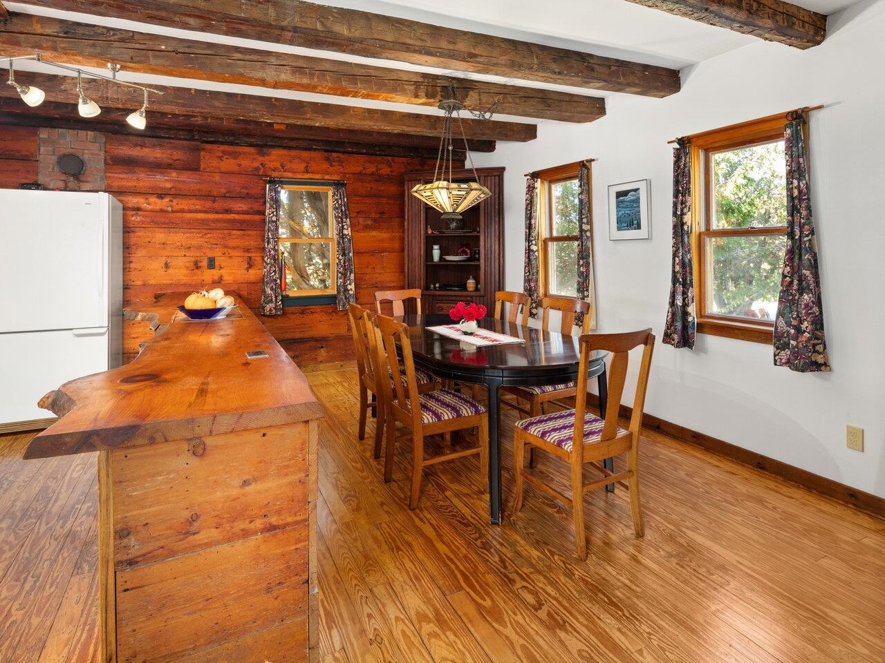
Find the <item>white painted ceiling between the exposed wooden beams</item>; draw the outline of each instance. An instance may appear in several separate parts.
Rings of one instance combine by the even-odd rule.
[[[854,4],[857,0],[793,0],[813,11],[831,14]],[[533,81],[504,79],[496,76],[443,70],[435,67],[409,65],[391,60],[354,57],[343,53],[302,49],[270,42],[256,42],[222,35],[209,35],[168,27],[150,26],[133,21],[98,17],[69,11],[46,9],[26,2],[4,0],[10,11],[21,11],[43,16],[54,16],[95,25],[122,27],[154,34],[168,34],[187,39],[230,43],[263,50],[280,50],[318,57],[332,57],[372,65],[412,69],[417,71],[454,74],[462,78],[509,82],[538,88],[561,89],[578,94],[610,96],[583,88],[545,84]],[[573,50],[585,50],[597,55],[620,57],[649,65],[682,69],[717,57],[729,50],[739,49],[756,41],[755,37],[738,34],[720,27],[711,27],[689,19],[671,16],[625,0],[323,0],[322,4],[348,7],[361,11],[387,14],[404,19],[455,27],[473,32],[496,34],[527,42],[543,43]],[[539,9],[540,8],[540,9]],[[444,10],[444,12],[442,11]],[[789,48],[783,46],[782,48]],[[0,53],[0,57],[2,57]],[[44,65],[21,62],[17,68],[58,74]],[[171,85],[187,88],[212,89],[250,95],[268,95],[304,99],[324,103],[338,103],[417,113],[438,113],[431,107],[411,104],[377,102],[330,95],[315,95],[290,90],[253,88],[204,80],[183,80],[163,76],[121,72],[120,78],[146,84]],[[499,116],[517,122],[532,122],[527,118]],[[547,120],[551,121],[551,120]]]

